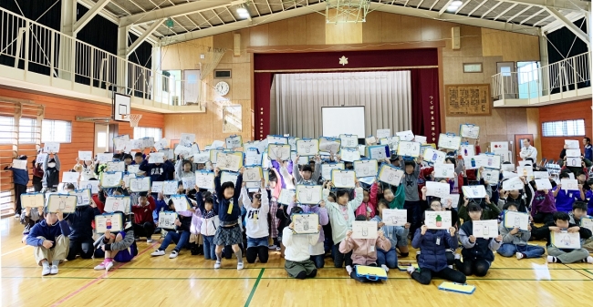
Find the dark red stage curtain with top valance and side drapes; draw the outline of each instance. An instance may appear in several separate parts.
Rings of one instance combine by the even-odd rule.
[[[348,65],[339,64],[339,58],[342,56],[348,57]],[[402,67],[393,70],[410,70],[411,130],[414,134],[427,137],[429,143],[438,141],[441,133],[437,65],[436,48],[254,55],[255,70],[336,69],[332,72],[339,72],[338,69],[342,67],[369,68],[361,71],[373,71],[372,68],[379,67]],[[434,68],[413,68],[424,66]],[[273,79],[274,72],[256,72],[254,76],[254,139],[263,139],[270,134],[270,89]]]

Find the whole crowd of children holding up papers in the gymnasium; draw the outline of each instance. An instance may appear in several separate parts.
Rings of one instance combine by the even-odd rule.
[[[479,153],[479,140],[475,140],[475,151]],[[533,147],[522,154],[531,161],[526,167],[546,171],[537,166],[536,150]],[[456,151],[442,150],[446,154],[443,163],[453,164],[452,178],[435,175],[432,163],[392,155],[380,162],[401,168],[400,185],[390,185],[374,179],[359,182],[355,179],[354,189],[337,189],[328,178],[323,178],[321,169],[326,163],[338,162],[339,155],[312,156],[310,163],[299,165],[301,157],[270,161],[267,180],[248,189],[243,179],[244,168],[239,169],[234,181],[222,180],[222,171],[210,162],[193,163],[192,157],[177,155],[176,161],[164,159],[162,163],[149,162],[149,155],[116,153],[113,159],[125,162],[126,168],[137,165],[139,175],[150,177],[151,181],[177,180],[178,194],[184,195],[190,207],[176,210],[170,195],[162,193],[132,192],[122,181],[117,188],[102,188],[88,203],[78,206],[74,213],[50,212],[47,207],[23,208],[20,195],[26,193],[28,174],[24,169],[8,166],[15,178],[16,213],[26,225],[26,244],[35,247],[37,264],[42,274],[56,274],[62,261],[103,258],[96,270],[113,267],[113,261],[126,262],[138,253],[135,241],[140,237],[152,243],[153,235],[160,233],[164,239],[151,256],[162,256],[174,242],[175,248],[169,258],[178,257],[184,249],[192,255],[203,254],[204,259],[213,261],[213,268],[223,266],[223,257],[237,261],[237,270],[244,268],[244,256],[248,263],[265,263],[270,251],[281,251],[289,276],[296,279],[313,278],[317,270],[331,257],[336,268],[345,267],[349,276],[357,281],[369,281],[356,272],[357,266],[375,266],[390,271],[401,266],[398,259],[410,257],[409,246],[417,249],[417,268],[410,266],[411,278],[421,284],[429,284],[433,277],[463,283],[465,276],[485,276],[495,254],[517,259],[539,258],[547,253],[546,261],[554,263],[589,262],[593,258],[591,230],[584,227],[583,220],[589,219],[593,211],[593,179],[588,180],[587,169],[563,168],[558,179],[578,180],[577,189],[562,189],[560,181],[550,180],[552,189],[538,189],[533,177],[516,174],[508,177],[501,171],[498,180],[484,180],[484,168],[466,169],[464,161]],[[535,155],[535,156],[534,156]],[[17,159],[27,159],[19,156]],[[584,159],[584,158],[583,158]],[[586,163],[586,162],[583,162]],[[60,161],[57,153],[49,153],[43,163],[34,163],[34,187],[42,182],[49,192],[76,190],[75,184],[59,184]],[[503,164],[505,166],[505,164]],[[183,186],[182,179],[193,178],[199,169],[214,173],[213,189]],[[346,169],[353,169],[347,163]],[[501,169],[497,169],[501,170]],[[106,171],[99,161],[80,161],[70,170],[79,173],[79,180],[97,180]],[[523,189],[505,190],[504,181],[519,177]],[[427,196],[426,182],[448,183],[450,194],[459,194],[459,201],[452,198]],[[541,182],[541,181],[540,181]],[[321,201],[318,204],[301,204],[296,197],[286,203],[280,200],[285,190],[297,185],[322,186]],[[463,195],[463,186],[484,186],[482,198]],[[58,187],[59,186],[59,187]],[[122,230],[111,233],[95,231],[94,219],[103,214],[109,197],[130,196],[130,212],[124,213]],[[407,210],[404,226],[390,226],[383,220],[385,210]],[[159,213],[172,211],[177,219],[172,228],[161,227]],[[430,229],[425,223],[428,211],[449,211],[452,216],[448,229]],[[520,212],[528,216],[527,229],[518,226],[507,228],[505,212]],[[298,234],[293,217],[295,214],[313,213],[318,216],[318,232]],[[376,239],[353,239],[354,221],[375,221]],[[488,238],[474,233],[473,222],[499,220],[498,235]],[[543,224],[539,227],[536,224]],[[555,232],[578,233],[581,248],[557,246],[553,240]],[[98,238],[98,239],[97,239]],[[95,240],[97,239],[97,240]],[[546,249],[530,244],[530,240],[546,240]],[[461,251],[458,251],[461,247]],[[277,249],[277,250],[276,250]],[[399,254],[399,256],[398,256]]]

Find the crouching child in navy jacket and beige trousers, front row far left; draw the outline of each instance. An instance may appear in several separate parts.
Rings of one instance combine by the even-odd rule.
[[[44,216],[45,220],[35,224],[26,238],[26,245],[35,247],[37,265],[43,267],[41,276],[57,274],[57,265],[66,259],[70,243],[70,228],[64,220],[64,213],[58,210],[46,212]],[[55,227],[56,225],[59,227]]]

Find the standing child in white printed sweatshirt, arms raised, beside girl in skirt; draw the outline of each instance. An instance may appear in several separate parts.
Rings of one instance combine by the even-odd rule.
[[[249,199],[246,182],[241,189],[241,197],[245,215],[245,233],[247,234],[247,262],[255,263],[255,259],[266,263],[268,259],[268,236],[267,214],[270,211],[270,203],[265,190],[265,179],[262,179],[262,186],[259,193],[254,194],[253,200]]]

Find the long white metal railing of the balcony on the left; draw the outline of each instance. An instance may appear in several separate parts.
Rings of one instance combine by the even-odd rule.
[[[199,83],[164,76],[159,70],[142,67],[3,7],[0,65],[167,105],[185,105],[182,92],[186,86],[201,92]],[[176,86],[179,83],[181,92]]]

